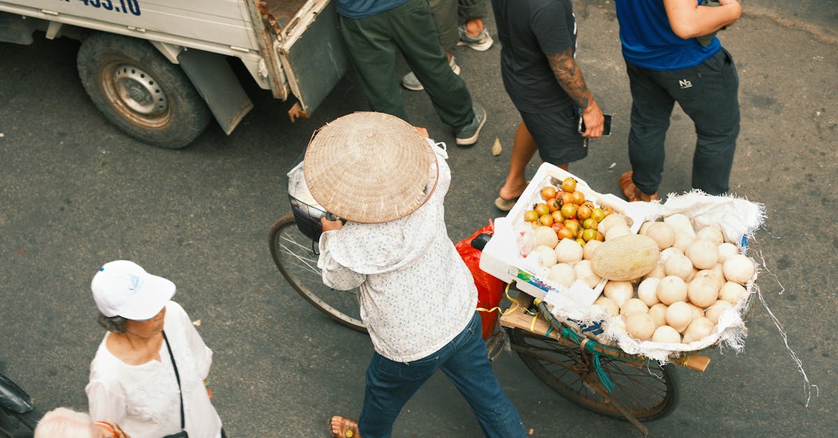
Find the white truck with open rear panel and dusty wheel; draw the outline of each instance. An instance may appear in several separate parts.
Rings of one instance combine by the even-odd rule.
[[[230,134],[253,103],[231,62],[308,117],[347,69],[330,0],[0,0],[0,42],[81,41],[82,84],[134,138],[178,149],[214,117]]]

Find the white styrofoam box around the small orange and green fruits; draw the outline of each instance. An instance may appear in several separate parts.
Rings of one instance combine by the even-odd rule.
[[[480,269],[494,275],[506,283],[515,281],[518,289],[543,299],[547,292],[553,291],[561,296],[561,300],[568,307],[592,305],[602,293],[606,280],[603,279],[597,287],[591,288],[581,280],[576,280],[570,288],[552,284],[547,281],[547,269],[538,266],[534,260],[521,257],[516,236],[516,228],[529,225],[524,222],[524,213],[532,209],[535,203],[541,202],[541,188],[545,185],[561,186],[561,181],[571,177],[577,180],[577,189],[585,194],[586,200],[593,201],[597,206],[610,206],[614,211],[628,216],[631,220],[631,231],[638,232],[643,224],[648,209],[633,206],[627,201],[611,194],[598,193],[587,183],[553,164],[541,164],[535,176],[527,185],[512,210],[505,216],[494,221],[494,236],[480,257]],[[640,203],[643,204],[643,203]]]

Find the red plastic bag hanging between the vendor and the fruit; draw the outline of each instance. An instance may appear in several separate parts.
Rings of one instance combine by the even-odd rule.
[[[483,323],[483,338],[485,339],[494,331],[494,326],[498,322],[499,309],[496,309],[500,304],[500,297],[504,293],[504,282],[480,270],[480,254],[481,250],[474,248],[471,243],[475,237],[480,234],[494,234],[494,224],[489,221],[489,225],[480,228],[474,232],[471,237],[465,238],[455,245],[463,262],[468,266],[474,278],[474,285],[477,286],[477,306],[480,311],[480,320]],[[497,311],[495,311],[497,310]]]

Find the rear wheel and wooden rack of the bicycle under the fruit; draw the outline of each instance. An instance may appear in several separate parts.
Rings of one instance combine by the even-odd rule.
[[[743,321],[755,297],[752,293],[742,309]],[[523,302],[517,302],[514,311],[504,312],[500,324],[510,330],[512,349],[527,368],[566,399],[599,414],[628,420],[644,435],[649,430],[640,420],[660,420],[678,404],[673,366],[703,372],[710,363],[710,358],[699,352],[685,352],[670,354],[670,362],[660,365],[649,357],[580,335],[557,321],[541,300],[524,292],[519,298]],[[530,302],[537,312],[530,310]]]

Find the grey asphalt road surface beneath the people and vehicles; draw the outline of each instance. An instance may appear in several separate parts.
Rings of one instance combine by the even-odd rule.
[[[574,4],[578,60],[615,118],[613,136],[593,142],[571,171],[595,190],[617,192],[629,169],[630,106],[617,22],[608,2]],[[766,212],[752,241],[766,305],[751,312],[743,352],[709,352],[704,373],[678,370],[679,407],[647,424],[651,435],[830,436],[838,428],[838,336],[829,328],[838,309],[835,9],[820,2],[806,11],[821,21],[789,22],[770,7],[721,35],[741,80],[732,192]],[[272,223],[290,211],[284,174],[313,129],[366,109],[354,75],[297,123],[287,120],[287,103],[251,86],[256,109],[230,136],[210,126],[188,148],[163,150],[128,138],[97,112],[77,78],[77,49],[43,35],[31,46],[0,44],[0,371],[40,409],[85,409],[88,366],[103,334],[90,279],[102,263],[128,258],[178,284],[175,300],[200,321],[215,351],[210,379],[228,435],[326,436],[329,415],[357,415],[369,340],[297,296],[267,246]],[[455,52],[489,122],[477,146],[449,149],[454,241],[500,216],[492,200],[519,118],[501,85],[499,50]],[[453,144],[427,96],[404,95],[411,122]],[[504,147],[497,157],[489,151],[494,138]],[[689,189],[694,142],[676,110],[661,193]],[[494,368],[534,436],[637,435],[624,421],[562,399],[513,353]],[[396,422],[396,436],[479,435],[442,376]]]

